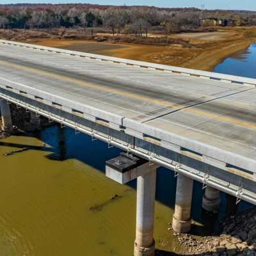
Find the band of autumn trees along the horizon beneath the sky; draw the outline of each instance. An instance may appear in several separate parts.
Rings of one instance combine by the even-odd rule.
[[[256,25],[256,12],[209,11],[196,8],[100,6],[92,4],[0,5],[0,28],[102,28],[115,33],[143,35],[150,30],[166,33],[189,31],[202,20],[221,19],[230,26]],[[225,22],[224,22],[225,20]]]

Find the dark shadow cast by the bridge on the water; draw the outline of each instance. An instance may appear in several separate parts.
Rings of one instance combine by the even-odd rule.
[[[18,148],[28,147],[32,150],[49,152],[50,154],[47,154],[45,157],[51,161],[77,159],[84,164],[100,170],[102,173],[105,172],[105,162],[118,156],[120,152],[122,152],[118,148],[108,148],[108,145],[102,141],[92,141],[92,137],[87,136],[86,134],[76,134],[73,129],[67,127],[61,128],[59,125],[54,125],[43,131],[31,134],[31,136],[36,136],[50,147],[4,143],[3,141],[0,141],[0,145],[8,145]],[[176,180],[177,179],[174,177],[172,171],[166,168],[159,168],[157,170],[156,200],[171,209],[174,209],[175,205]],[[136,180],[129,182],[128,186],[136,189]],[[202,184],[195,181],[191,212],[193,220],[196,223],[200,223],[200,225],[194,225],[191,234],[196,234],[197,236],[209,236],[212,232],[220,231],[219,220],[223,220],[227,214],[230,215],[236,213],[237,207],[235,206],[236,204],[234,204],[234,197],[226,196],[225,193],[221,193],[221,205],[218,215],[209,214],[209,212],[202,211],[202,195]],[[248,207],[250,207],[250,204],[241,202],[238,210],[241,211]]]

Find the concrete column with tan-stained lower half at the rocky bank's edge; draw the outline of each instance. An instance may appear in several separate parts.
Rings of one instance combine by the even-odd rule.
[[[177,178],[175,211],[172,227],[175,232],[186,233],[191,228],[191,200],[193,193],[193,179],[182,174]]]

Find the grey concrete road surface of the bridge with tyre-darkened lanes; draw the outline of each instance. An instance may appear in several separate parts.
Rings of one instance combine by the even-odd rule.
[[[101,109],[125,127],[220,161],[234,156],[228,163],[256,171],[253,85],[6,44],[0,44],[0,83]]]

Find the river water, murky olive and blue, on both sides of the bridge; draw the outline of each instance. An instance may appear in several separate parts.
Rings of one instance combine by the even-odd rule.
[[[256,45],[252,45],[215,71],[256,77],[255,54]],[[3,156],[20,147],[31,149]],[[119,152],[58,125],[1,140],[0,255],[132,255],[136,184],[123,186],[104,175],[105,161]],[[175,202],[175,178],[170,170],[159,168],[156,198],[157,248],[179,252],[176,238],[168,231]],[[216,216],[202,214],[201,200],[202,185],[195,182],[193,232],[200,236],[216,228]],[[250,205],[242,202],[239,210],[246,207]],[[220,209],[218,219],[225,216],[224,194]]]

